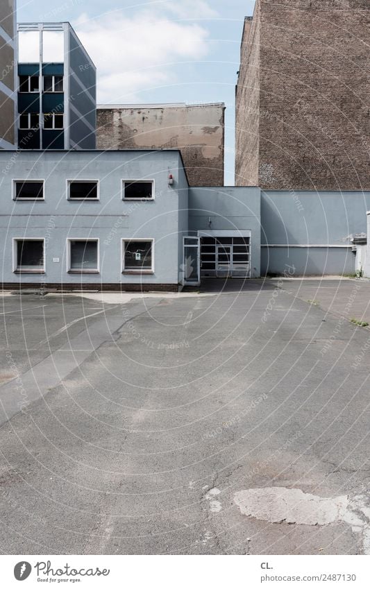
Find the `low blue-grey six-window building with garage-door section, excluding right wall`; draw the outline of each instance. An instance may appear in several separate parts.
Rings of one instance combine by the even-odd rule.
[[[3,287],[260,275],[260,192],[189,187],[178,150],[0,153]]]

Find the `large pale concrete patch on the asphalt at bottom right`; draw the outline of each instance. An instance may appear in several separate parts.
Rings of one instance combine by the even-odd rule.
[[[243,515],[271,522],[326,526],[346,522],[362,534],[364,554],[370,554],[370,509],[367,495],[319,497],[301,489],[267,487],[241,490],[234,501]]]

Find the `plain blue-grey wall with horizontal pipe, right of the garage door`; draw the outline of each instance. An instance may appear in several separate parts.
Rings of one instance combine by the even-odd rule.
[[[353,235],[367,232],[370,192],[261,193],[261,275],[355,273]]]

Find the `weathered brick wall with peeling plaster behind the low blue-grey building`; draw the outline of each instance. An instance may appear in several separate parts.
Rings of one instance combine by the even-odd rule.
[[[224,104],[99,107],[99,149],[179,148],[192,186],[224,184]]]

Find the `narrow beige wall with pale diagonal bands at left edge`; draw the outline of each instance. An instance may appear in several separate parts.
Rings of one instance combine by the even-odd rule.
[[[15,0],[0,3],[0,149],[15,148],[17,50]]]

